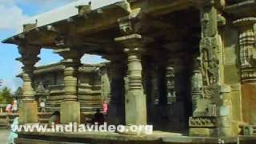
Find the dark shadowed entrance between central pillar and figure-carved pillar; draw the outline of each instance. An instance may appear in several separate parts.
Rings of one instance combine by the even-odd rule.
[[[188,132],[191,76],[201,38],[199,15],[195,9],[163,15],[155,22],[165,24],[164,30],[148,34],[154,35],[154,46],[142,58],[142,77],[148,123],[154,130]]]

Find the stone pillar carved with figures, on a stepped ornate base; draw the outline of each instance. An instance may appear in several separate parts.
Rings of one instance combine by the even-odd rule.
[[[214,1],[198,0],[201,12],[200,72],[202,98],[196,98],[196,108],[190,117],[190,135],[222,136],[222,39],[218,34],[218,10]],[[194,74],[200,80],[200,73]],[[193,83],[193,82],[192,82]],[[199,86],[200,87],[200,86]],[[195,105],[195,104],[194,104]],[[229,113],[230,111],[226,111]],[[226,119],[230,122],[230,118]],[[229,127],[230,128],[230,127]],[[226,133],[227,134],[227,133]],[[227,136],[227,135],[225,135]]]

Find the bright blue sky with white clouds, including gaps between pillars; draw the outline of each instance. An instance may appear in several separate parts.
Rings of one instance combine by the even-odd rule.
[[[59,6],[64,6],[75,0],[0,0],[0,40],[13,35],[18,30],[18,24],[24,18],[41,14]],[[15,76],[22,72],[22,63],[15,61],[19,58],[17,46],[2,44],[0,42],[0,79],[3,86],[16,90],[22,86],[22,80]],[[58,62],[62,58],[53,54],[51,50],[42,50],[38,66]],[[99,56],[85,55],[84,63],[102,62]]]

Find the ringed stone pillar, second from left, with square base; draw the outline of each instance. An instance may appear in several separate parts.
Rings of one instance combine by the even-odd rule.
[[[62,64],[64,68],[64,91],[63,102],[61,102],[61,122],[80,123],[80,103],[78,102],[78,67],[82,54],[78,50],[70,48],[54,51],[60,54],[64,59]]]

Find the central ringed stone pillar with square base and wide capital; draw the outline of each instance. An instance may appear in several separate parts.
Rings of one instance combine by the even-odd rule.
[[[128,57],[126,125],[146,124],[146,95],[142,88],[142,39],[142,36],[139,34],[130,34],[115,38],[116,42],[120,42],[123,46],[126,46],[124,51]]]

